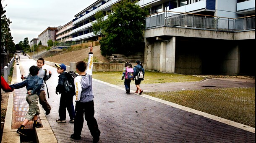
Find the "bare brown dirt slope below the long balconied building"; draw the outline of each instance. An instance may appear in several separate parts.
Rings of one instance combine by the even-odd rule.
[[[69,65],[70,62],[78,62],[80,60],[84,60],[88,58],[88,53],[90,52],[89,48],[74,50],[60,53],[59,55],[55,55],[52,57],[44,58],[44,60],[53,62],[53,63],[64,63],[65,65]],[[110,61],[101,55],[100,46],[93,47],[93,56],[96,58],[99,63],[109,63]]]

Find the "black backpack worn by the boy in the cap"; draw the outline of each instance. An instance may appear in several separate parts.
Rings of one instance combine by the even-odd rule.
[[[69,71],[67,75],[66,80],[64,81],[64,90],[65,93],[68,93],[70,95],[75,95],[76,94],[76,90],[75,90],[75,78],[78,76],[78,74],[76,74],[73,71]]]

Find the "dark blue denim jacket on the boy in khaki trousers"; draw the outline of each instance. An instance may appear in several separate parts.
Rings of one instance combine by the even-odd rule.
[[[10,88],[19,89],[26,86],[26,89],[28,91],[32,90],[31,95],[32,94],[40,95],[41,93],[40,88],[43,83],[44,83],[44,80],[42,78],[40,78],[37,75],[34,75],[34,76],[31,76],[30,78],[27,78],[21,83],[10,85]]]

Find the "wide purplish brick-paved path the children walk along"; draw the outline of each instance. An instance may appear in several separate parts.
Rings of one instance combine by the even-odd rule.
[[[20,67],[29,73],[36,65],[31,59],[21,59]],[[81,140],[73,140],[72,123],[57,123],[60,95],[55,94],[58,74],[55,67],[44,65],[52,72],[47,81],[51,113],[46,115],[59,143],[92,142],[84,122]],[[142,85],[143,86],[143,85]],[[101,136],[99,143],[254,143],[255,133],[187,112],[136,94],[127,95],[118,88],[93,80],[95,118]],[[74,102],[75,104],[75,102]],[[42,111],[41,113],[43,113]],[[66,120],[70,120],[68,112]]]

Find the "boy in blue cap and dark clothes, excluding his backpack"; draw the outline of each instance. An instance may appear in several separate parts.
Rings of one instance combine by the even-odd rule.
[[[66,108],[68,110],[69,114],[69,122],[74,123],[75,122],[75,109],[73,105],[73,95],[69,95],[68,93],[65,93],[64,91],[64,81],[67,79],[67,72],[66,65],[62,64],[55,64],[57,67],[57,73],[59,73],[59,81],[58,85],[56,87],[56,94],[60,95],[60,107],[59,107],[59,116],[60,119],[56,120],[56,122],[65,123],[66,122]]]

